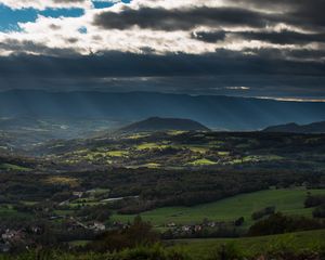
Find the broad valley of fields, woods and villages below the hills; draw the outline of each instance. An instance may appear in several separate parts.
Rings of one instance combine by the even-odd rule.
[[[47,231],[52,243],[74,247],[129,229],[139,217],[177,245],[251,236],[272,218],[309,223],[290,232],[322,230],[322,203],[307,202],[325,197],[324,147],[325,134],[171,129],[6,150],[0,230],[21,234],[29,246]]]

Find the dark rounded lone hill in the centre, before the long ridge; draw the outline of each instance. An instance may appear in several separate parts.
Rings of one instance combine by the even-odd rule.
[[[150,132],[150,131],[209,131],[204,125],[191,120],[180,118],[161,118],[151,117],[142,121],[131,123],[127,127],[119,129],[119,132]]]

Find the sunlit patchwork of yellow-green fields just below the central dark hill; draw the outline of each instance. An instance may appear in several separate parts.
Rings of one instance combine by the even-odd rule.
[[[34,147],[56,164],[78,168],[113,166],[129,168],[220,168],[302,165],[325,169],[325,136],[226,132],[154,132],[114,140],[75,140]],[[290,144],[290,146],[288,146]],[[58,145],[58,146],[57,146]],[[307,152],[307,153],[304,153]]]

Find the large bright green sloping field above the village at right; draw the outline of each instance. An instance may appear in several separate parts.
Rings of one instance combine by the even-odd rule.
[[[311,194],[325,194],[325,190],[268,190],[249,194],[242,194],[216,203],[203,204],[195,207],[166,207],[141,214],[144,220],[155,225],[170,222],[177,224],[199,223],[204,219],[212,221],[233,221],[239,217],[245,218],[245,225],[252,223],[251,213],[265,207],[274,206],[276,211],[286,214],[302,214],[311,217],[311,208],[303,207],[308,192]],[[115,214],[119,221],[131,221],[135,216]]]

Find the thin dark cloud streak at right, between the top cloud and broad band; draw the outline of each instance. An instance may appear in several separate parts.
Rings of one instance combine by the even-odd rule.
[[[306,44],[310,42],[325,42],[324,34],[303,34],[297,31],[198,31],[192,34],[192,37],[206,41],[217,42],[225,39],[226,36],[238,37],[246,40],[260,40],[275,44]]]

